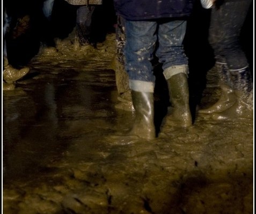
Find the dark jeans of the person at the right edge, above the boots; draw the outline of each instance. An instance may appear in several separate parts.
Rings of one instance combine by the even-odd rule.
[[[230,70],[247,67],[239,36],[251,0],[224,1],[220,9],[211,9],[209,43],[217,62],[226,63]]]

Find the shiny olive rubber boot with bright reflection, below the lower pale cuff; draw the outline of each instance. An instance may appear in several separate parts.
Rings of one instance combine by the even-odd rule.
[[[129,135],[147,140],[155,139],[153,93],[131,90],[131,97],[135,109],[135,121]]]

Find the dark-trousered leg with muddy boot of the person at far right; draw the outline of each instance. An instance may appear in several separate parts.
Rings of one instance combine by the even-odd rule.
[[[211,12],[209,42],[214,49],[216,65],[225,67],[220,68],[220,76],[224,77],[220,100],[210,107],[210,111],[203,111],[223,112],[223,115],[215,113],[214,119],[244,117],[243,114],[247,117],[248,113],[243,112],[250,109],[248,104],[252,105],[252,77],[240,46],[240,30],[251,3],[251,0],[224,2],[220,9]]]

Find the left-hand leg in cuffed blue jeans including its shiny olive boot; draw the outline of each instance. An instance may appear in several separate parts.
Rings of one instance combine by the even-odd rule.
[[[154,125],[155,76],[151,59],[156,44],[155,21],[126,20],[126,71],[129,75],[129,86],[135,109],[135,122],[131,135],[143,139],[156,137]]]

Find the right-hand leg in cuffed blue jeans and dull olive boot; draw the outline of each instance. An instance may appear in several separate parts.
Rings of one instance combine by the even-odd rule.
[[[186,21],[173,20],[160,23],[158,30],[159,48],[156,55],[163,63],[164,77],[169,88],[171,114],[166,124],[179,127],[192,125],[189,108],[188,60],[182,42],[186,32]]]

